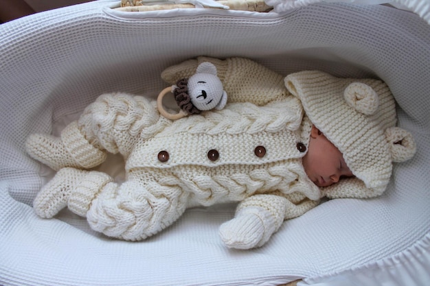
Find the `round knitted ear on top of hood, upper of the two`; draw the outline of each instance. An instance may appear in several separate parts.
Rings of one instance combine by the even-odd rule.
[[[343,97],[349,106],[365,115],[372,115],[378,110],[378,95],[373,88],[362,82],[352,82],[348,85]]]

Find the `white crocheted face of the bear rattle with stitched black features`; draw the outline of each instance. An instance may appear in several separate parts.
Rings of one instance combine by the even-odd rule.
[[[223,97],[223,84],[216,75],[196,73],[188,79],[191,102],[199,110],[216,108]]]

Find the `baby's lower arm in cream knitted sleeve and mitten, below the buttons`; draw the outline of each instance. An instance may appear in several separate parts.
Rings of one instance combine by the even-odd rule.
[[[229,248],[262,246],[284,219],[298,217],[317,204],[300,193],[252,195],[240,202],[234,219],[220,226],[221,239]]]

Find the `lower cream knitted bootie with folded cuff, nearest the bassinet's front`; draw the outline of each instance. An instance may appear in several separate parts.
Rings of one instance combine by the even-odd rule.
[[[95,195],[111,180],[98,171],[60,169],[36,196],[34,211],[40,217],[51,218],[69,206],[73,213],[84,216]]]

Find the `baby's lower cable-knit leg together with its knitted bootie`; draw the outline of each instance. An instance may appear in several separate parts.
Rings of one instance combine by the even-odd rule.
[[[145,180],[130,176],[118,184],[99,171],[60,169],[38,193],[34,210],[49,218],[68,206],[87,217],[93,230],[109,237],[142,240],[175,222],[185,211],[189,196],[170,180],[163,182],[163,174],[152,175]]]

